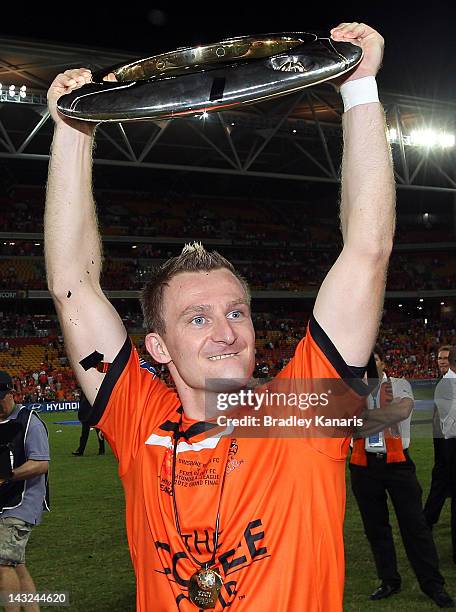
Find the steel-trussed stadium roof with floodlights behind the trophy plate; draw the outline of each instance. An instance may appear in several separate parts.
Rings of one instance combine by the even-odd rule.
[[[0,161],[47,161],[53,126],[46,90],[58,72],[133,59],[121,51],[0,38]],[[398,188],[456,192],[456,148],[411,146],[408,136],[423,127],[456,133],[456,104],[380,96],[396,133]],[[337,184],[341,115],[339,95],[325,85],[207,117],[103,124],[94,159],[112,167]]]

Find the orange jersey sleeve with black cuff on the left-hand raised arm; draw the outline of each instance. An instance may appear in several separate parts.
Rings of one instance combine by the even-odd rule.
[[[153,428],[178,406],[177,395],[152,366],[140,360],[127,338],[110,364],[93,406],[80,414],[80,419],[101,429],[122,477]]]

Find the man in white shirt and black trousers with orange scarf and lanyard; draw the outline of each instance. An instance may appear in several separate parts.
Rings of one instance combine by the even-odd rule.
[[[386,375],[383,351],[379,346],[374,349],[374,357],[379,384],[367,400],[367,436],[354,440],[350,458],[353,494],[381,580],[370,599],[384,599],[401,589],[389,522],[388,494],[396,512],[407,557],[421,590],[439,607],[452,608],[455,604],[444,589],[445,581],[439,571],[432,531],[423,514],[422,489],[408,452],[414,402],[412,388],[404,378]],[[382,431],[369,432],[369,412],[376,414],[372,421],[378,421],[391,412],[392,407],[401,410],[402,420],[391,425],[393,419],[387,417]],[[366,427],[362,427],[359,434],[366,435]]]

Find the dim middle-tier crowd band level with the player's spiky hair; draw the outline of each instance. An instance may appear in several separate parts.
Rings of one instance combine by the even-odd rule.
[[[285,247],[273,249],[274,254],[263,250],[261,253],[243,252],[234,257],[230,257],[223,247],[219,250],[228,256],[254,290],[302,291],[318,287],[337,257],[335,251],[306,252]],[[101,279],[105,290],[139,290],[150,271],[163,259],[162,252],[158,259],[136,255],[135,251],[134,258],[105,260]],[[451,268],[445,252],[393,253],[391,257],[388,290],[451,289],[455,285],[456,268]],[[43,260],[19,257],[0,260],[0,287],[3,290],[45,290]]]

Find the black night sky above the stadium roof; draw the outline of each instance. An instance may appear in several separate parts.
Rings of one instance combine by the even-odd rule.
[[[46,3],[21,4],[20,12],[1,9],[0,37],[47,40],[133,52],[138,57],[240,34],[280,31],[328,31],[340,21],[364,21],[386,39],[383,89],[410,95],[456,99],[456,4],[435,0],[427,8],[418,2],[365,3],[308,1],[252,3],[236,0],[210,3],[136,4],[124,10],[108,3],[62,2],[52,10]],[[17,5],[17,3],[16,3]],[[117,3],[116,3],[117,5]],[[301,5],[299,7],[299,5]],[[275,8],[274,8],[275,7]]]

